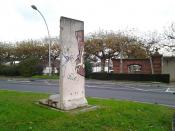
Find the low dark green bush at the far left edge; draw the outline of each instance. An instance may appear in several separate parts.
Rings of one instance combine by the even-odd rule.
[[[19,76],[19,68],[17,65],[0,65],[0,75]]]

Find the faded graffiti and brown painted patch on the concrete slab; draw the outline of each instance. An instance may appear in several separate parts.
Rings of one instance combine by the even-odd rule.
[[[83,55],[84,55],[84,31],[79,30],[75,31],[75,38],[77,41],[77,47],[78,47],[78,54],[76,52],[73,52],[71,47],[73,45],[70,45],[70,47],[67,47],[62,45],[62,62],[61,62],[61,68],[63,69],[63,77],[67,77],[69,80],[77,81],[78,77],[77,74],[81,76],[85,76],[85,69],[84,69],[84,61],[83,61]],[[68,65],[71,65],[67,67]],[[65,71],[68,71],[69,73],[67,76],[65,76]],[[77,74],[75,74],[75,72]]]

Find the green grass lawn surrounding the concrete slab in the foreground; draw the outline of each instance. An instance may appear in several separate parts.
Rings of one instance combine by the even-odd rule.
[[[170,131],[175,109],[114,99],[88,98],[101,108],[58,112],[34,104],[48,94],[0,90],[0,131]]]

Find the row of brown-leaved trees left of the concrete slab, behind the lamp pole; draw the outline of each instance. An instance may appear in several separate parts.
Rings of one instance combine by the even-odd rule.
[[[52,39],[51,44],[51,66],[54,71],[56,62],[60,54],[58,39]],[[39,59],[44,66],[48,63],[49,45],[46,41],[20,41],[15,44],[0,43],[0,64],[15,61],[25,61],[27,59]],[[58,68],[57,68],[58,69]]]

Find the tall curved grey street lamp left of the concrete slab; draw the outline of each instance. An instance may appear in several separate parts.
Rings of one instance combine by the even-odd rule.
[[[48,28],[48,25],[47,25],[47,22],[46,22],[46,19],[44,18],[44,15],[37,9],[37,7],[35,5],[31,5],[32,9],[38,11],[38,13],[41,15],[41,17],[43,18],[44,20],[44,23],[46,25],[46,28],[47,28],[47,33],[48,33],[48,38],[49,38],[49,76],[51,76],[51,59],[50,59],[50,52],[51,52],[51,37],[50,37],[50,33],[49,33],[49,28]]]

